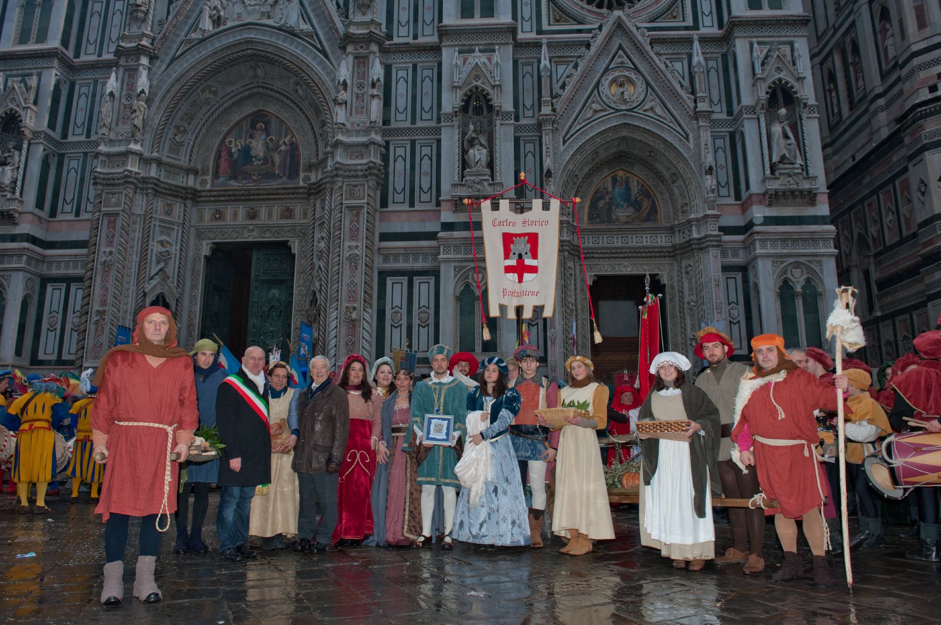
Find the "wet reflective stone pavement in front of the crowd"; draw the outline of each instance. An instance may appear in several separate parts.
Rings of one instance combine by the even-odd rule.
[[[211,493],[204,538],[215,545]],[[132,523],[124,603],[99,603],[104,525],[88,493],[70,505],[50,497],[52,514],[18,515],[13,495],[0,495],[0,622],[25,623],[928,623],[941,622],[935,597],[938,565],[907,560],[915,544],[888,527],[888,545],[854,555],[853,594],[809,581],[775,585],[780,564],[768,525],[764,573],[709,563],[699,572],[673,570],[643,548],[635,508],[614,510],[617,539],[592,555],[570,557],[547,548],[473,553],[458,544],[413,550],[359,547],[326,555],[288,549],[231,563],[217,554],[171,555],[171,526],[157,560],[164,601],[144,606],[131,596],[137,529]],[[717,524],[718,545],[730,544]],[[719,550],[717,547],[717,551]],[[17,559],[35,552],[36,557]],[[806,554],[805,554],[806,556]],[[831,564],[842,574],[841,558]],[[808,563],[809,569],[809,563]]]

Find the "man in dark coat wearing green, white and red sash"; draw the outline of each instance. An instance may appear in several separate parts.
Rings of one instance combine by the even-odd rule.
[[[215,423],[223,445],[219,464],[219,512],[215,524],[222,557],[255,557],[248,549],[248,514],[255,487],[271,482],[271,427],[264,351],[249,347],[242,368],[219,384]]]

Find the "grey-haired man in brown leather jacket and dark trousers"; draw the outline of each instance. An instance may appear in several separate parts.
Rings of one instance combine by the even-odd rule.
[[[297,406],[300,436],[292,465],[300,492],[295,549],[314,554],[327,551],[337,526],[338,474],[350,430],[346,393],[330,382],[329,373],[327,356],[314,356],[311,385]]]

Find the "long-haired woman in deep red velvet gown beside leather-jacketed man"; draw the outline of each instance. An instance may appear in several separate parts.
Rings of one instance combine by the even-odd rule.
[[[346,392],[350,407],[350,433],[340,465],[337,528],[333,541],[349,547],[373,534],[373,478],[376,454],[389,458],[382,441],[382,395],[366,382],[366,360],[357,353],[343,363],[338,384]]]

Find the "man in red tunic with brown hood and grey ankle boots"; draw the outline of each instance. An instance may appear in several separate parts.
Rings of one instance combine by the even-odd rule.
[[[96,461],[108,465],[95,509],[106,523],[102,604],[119,605],[123,599],[131,517],[141,518],[134,596],[159,602],[153,569],[160,533],[176,511],[179,474],[179,464],[169,454],[179,454],[178,462],[186,460],[199,423],[192,361],[189,352],[177,347],[170,311],[161,306],[141,310],[132,343],[104,354],[95,384],[91,436]]]

